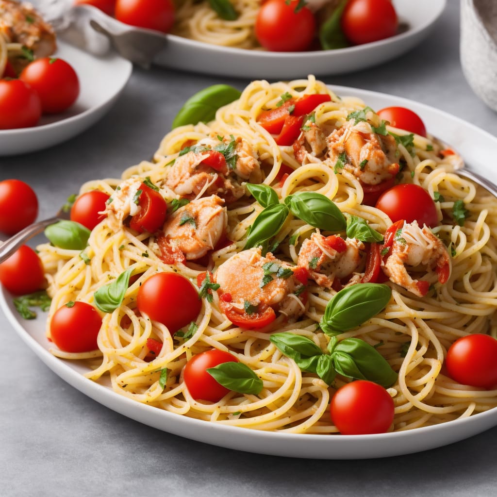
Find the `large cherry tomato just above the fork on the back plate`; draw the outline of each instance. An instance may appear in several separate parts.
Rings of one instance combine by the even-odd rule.
[[[140,28],[167,33],[174,22],[171,0],[116,0],[116,19]]]

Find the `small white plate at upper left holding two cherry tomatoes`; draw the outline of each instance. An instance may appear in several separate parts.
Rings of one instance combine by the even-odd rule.
[[[132,64],[108,53],[94,57],[58,39],[54,57],[73,66],[80,80],[80,95],[66,112],[42,116],[37,126],[0,130],[0,156],[25,154],[69,140],[100,119],[126,85]]]

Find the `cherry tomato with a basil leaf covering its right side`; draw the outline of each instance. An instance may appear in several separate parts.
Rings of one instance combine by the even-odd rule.
[[[214,348],[194,355],[186,363],[183,379],[188,392],[195,400],[218,402],[230,391],[206,371],[224,362],[239,361],[233,354]]]

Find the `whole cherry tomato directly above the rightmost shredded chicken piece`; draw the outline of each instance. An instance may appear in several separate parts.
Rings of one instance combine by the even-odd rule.
[[[386,190],[375,207],[394,223],[405,219],[408,223],[417,221],[421,227],[423,224],[430,227],[438,224],[435,202],[426,190],[416,184],[400,184]]]

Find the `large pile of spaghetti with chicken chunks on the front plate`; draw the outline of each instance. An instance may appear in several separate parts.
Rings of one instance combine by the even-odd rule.
[[[316,94],[320,97],[314,109],[299,121],[297,140],[278,145],[285,143],[283,132],[276,137],[266,129],[263,117],[274,117],[275,109],[283,109],[285,118],[298,117],[299,105]],[[350,146],[344,145],[346,140]],[[359,146],[357,156],[353,143]],[[231,163],[228,171],[211,161],[213,150],[223,151]],[[375,154],[383,154],[383,166]],[[388,157],[395,163],[385,162]],[[154,162],[130,167],[120,179],[83,185],[81,193],[98,189],[112,200],[107,216],[91,231],[84,256],[81,250],[51,244],[38,247],[52,297],[49,323],[68,301],[93,304],[95,292],[128,268],[132,268],[133,279],[120,305],[103,316],[99,350],[66,353],[54,347],[52,352],[65,359],[85,360],[90,380],[110,378],[118,394],[171,413],[260,430],[324,434],[338,431],[331,421],[330,399],[353,375],[327,376],[301,368],[291,354],[284,353],[285,347],[270,338],[275,333],[302,337],[323,354],[331,341],[339,344],[357,338],[374,348],[392,371],[391,380],[384,384],[395,404],[391,430],[437,424],[494,408],[496,390],[458,384],[443,367],[446,351],[457,338],[469,333],[495,337],[497,333],[497,200],[454,172],[459,160],[456,154],[441,153],[429,135],[392,128],[358,98],[335,95],[313,77],[288,83],[252,82],[238,100],[218,109],[212,122],[168,133]],[[173,205],[182,205],[176,211],[181,212],[193,209],[195,202],[216,197],[214,207],[224,213],[220,218],[223,233],[214,229],[215,240],[204,240],[206,251],[198,257],[199,253],[192,255],[181,244],[181,230],[190,225],[191,210],[190,217],[183,215],[175,224],[166,221],[161,233],[130,228],[127,217],[133,212],[125,206],[133,192],[126,192],[126,197],[120,192],[132,189],[137,180],[157,187],[169,206],[169,220],[175,219]],[[403,232],[397,230],[391,239],[386,258],[392,220],[365,198],[375,186],[392,183],[420,185],[437,200],[437,222],[431,230],[422,230],[438,250],[435,263],[425,247],[426,253],[415,264],[402,257],[388,264],[394,260],[396,247],[402,251],[421,233],[415,223],[401,226]],[[303,192],[320,202],[323,197],[332,201],[347,228],[342,225],[330,231],[313,226],[309,216],[300,217],[307,201]],[[296,199],[303,202],[300,211],[295,208]],[[117,200],[120,206],[112,207]],[[462,211],[459,218],[454,206]],[[271,218],[270,233],[257,238],[260,219],[268,209],[282,211],[283,217],[280,221]],[[201,225],[201,213],[197,214],[200,237],[208,227]],[[360,227],[356,233],[367,232],[364,241],[348,236],[351,224]],[[414,241],[409,238],[412,233]],[[377,241],[371,241],[371,236],[377,236]],[[368,267],[373,247],[381,249],[380,275],[372,275]],[[303,280],[294,277],[297,268],[306,275]],[[280,269],[290,272],[280,273]],[[140,286],[157,272],[180,273],[197,285],[197,277],[205,277],[206,271],[220,288],[216,291],[214,285],[204,293],[201,311],[189,330],[185,327],[171,334],[138,311]],[[245,278],[246,271],[267,279]],[[379,281],[373,284],[388,289],[386,305],[364,322],[352,323],[352,328],[333,328],[327,318],[331,299],[367,281]],[[264,293],[269,287],[279,297]],[[227,317],[235,311],[249,318],[257,306],[271,309],[274,315],[262,328],[247,322],[237,326]],[[256,310],[263,314],[261,307]],[[349,315],[354,321],[353,313]],[[147,346],[151,338],[162,344],[152,357]],[[211,349],[228,351],[248,366],[262,380],[260,391],[241,394],[231,390],[214,403],[195,400],[185,386],[184,367],[192,357]]]

